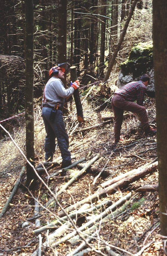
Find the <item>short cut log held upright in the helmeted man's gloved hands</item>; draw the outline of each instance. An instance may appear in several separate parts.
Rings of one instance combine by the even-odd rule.
[[[77,80],[77,71],[75,66],[70,67],[70,80],[72,82],[75,82]],[[84,121],[83,108],[82,108],[81,99],[79,97],[79,89],[76,89],[73,95],[74,95],[75,105],[77,109],[78,122],[83,122]]]

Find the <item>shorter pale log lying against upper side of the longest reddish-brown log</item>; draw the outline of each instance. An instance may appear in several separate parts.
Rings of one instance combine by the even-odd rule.
[[[158,162],[156,162],[157,164],[157,166],[158,166]],[[148,165],[148,166],[152,166],[152,164],[151,165]],[[144,170],[146,169],[147,167],[144,165],[144,166],[141,166],[141,167],[139,167],[139,168],[137,168],[137,169],[133,169],[133,170],[131,170],[131,171],[129,171],[129,172],[126,172],[126,173],[124,173],[124,174],[121,174],[121,175],[118,175],[118,176],[116,176],[115,178],[113,178],[113,179],[111,179],[111,180],[107,180],[107,181],[105,181],[105,182],[103,182],[103,183],[101,183],[101,187],[102,188],[105,188],[105,187],[108,187],[108,186],[110,186],[110,185],[112,185],[112,184],[114,184],[114,183],[116,183],[116,182],[118,182],[118,181],[121,181],[122,179],[124,179],[125,177],[127,177],[127,176],[130,176],[130,175],[132,175],[132,174],[137,174],[138,172],[144,172]],[[155,166],[153,165],[153,168],[155,168]]]

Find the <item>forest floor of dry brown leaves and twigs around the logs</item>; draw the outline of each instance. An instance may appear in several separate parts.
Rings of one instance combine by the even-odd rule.
[[[87,100],[88,98],[89,100]],[[79,131],[83,128],[102,123],[103,117],[113,116],[110,101],[99,107],[104,101],[96,95],[95,91],[92,90],[87,99],[83,102],[83,123],[79,124],[77,122],[74,105],[74,110],[64,115],[64,122],[69,134],[69,150],[72,155],[75,155],[73,161],[77,161],[82,157],[86,157],[86,160],[89,161],[97,154],[100,154],[101,157],[92,166],[105,167],[105,169],[110,170],[110,176],[101,175],[93,185],[93,181],[98,173],[86,171],[58,197],[59,203],[64,209],[74,204],[74,202],[100,191],[102,189],[101,183],[104,181],[150,163],[157,155],[156,135],[145,137],[140,122],[134,115],[130,115],[123,120],[122,135],[124,141],[118,144],[116,148],[113,146],[113,120],[105,125],[96,126],[86,131]],[[149,121],[154,126],[155,100],[146,98],[144,106],[148,110]],[[12,122],[8,123],[8,127],[10,126],[12,126]],[[19,128],[14,128],[11,134],[17,145],[25,152],[24,117],[19,119]],[[35,109],[35,154],[38,158],[36,166],[38,163],[44,162],[44,138],[44,124],[40,108],[37,107]],[[0,146],[1,211],[26,161],[8,135],[0,141]],[[59,148],[56,148],[55,158],[59,156]],[[58,169],[60,168],[54,167],[48,172],[52,174]],[[79,172],[77,167],[73,168],[73,170]],[[44,181],[46,181],[45,176],[46,174],[42,175]],[[49,187],[56,193],[66,182],[66,177],[57,176],[51,180]],[[115,255],[164,255],[159,227],[158,192],[136,191],[143,185],[155,183],[158,183],[158,170],[130,183],[128,187],[115,189],[115,192],[107,194],[106,197],[93,203],[92,205],[97,205],[106,200],[111,200],[114,204],[129,192],[132,193],[131,200],[122,213],[120,212],[116,218],[112,218],[104,223],[102,221],[96,223],[96,229],[93,231],[93,233],[95,232],[93,240],[90,242],[90,246],[86,246],[86,248],[91,249],[89,252],[80,255],[114,255],[111,254],[113,251],[117,253]],[[39,203],[42,205],[45,205],[50,200],[50,193],[41,181],[37,181],[35,191],[32,194],[29,192],[25,193],[19,188],[14,196],[12,205],[10,205],[5,216],[0,218],[0,255],[29,256],[38,248],[39,237],[33,233],[33,230],[36,229],[35,220],[27,222],[27,218],[34,216],[34,197],[38,198]],[[59,211],[60,207],[56,205],[49,208],[49,211],[43,209],[41,212],[43,216],[40,217],[41,226],[54,220]],[[93,215],[93,218],[95,216]],[[86,223],[86,219],[78,218],[75,223],[79,228]],[[70,226],[67,230],[64,230],[63,236],[66,236],[73,230],[74,227]],[[48,229],[46,232],[41,233],[43,243],[47,240],[48,234],[52,232],[52,229]],[[77,248],[79,244],[80,241],[73,245],[61,243],[57,248],[42,246],[42,255],[64,256],[74,250],[74,248]],[[106,250],[106,244],[109,244],[110,249],[112,249],[110,254]]]

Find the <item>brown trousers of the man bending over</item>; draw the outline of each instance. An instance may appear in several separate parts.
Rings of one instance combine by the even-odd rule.
[[[121,126],[123,122],[124,110],[137,113],[141,121],[142,128],[146,130],[148,128],[148,116],[146,109],[134,102],[127,101],[123,96],[114,93],[111,100],[115,123],[114,123],[114,140],[118,142],[121,135]]]

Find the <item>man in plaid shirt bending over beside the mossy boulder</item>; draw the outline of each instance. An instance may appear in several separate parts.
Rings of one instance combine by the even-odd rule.
[[[111,100],[115,117],[114,143],[117,143],[120,140],[124,110],[139,115],[145,135],[156,134],[156,130],[149,126],[147,112],[143,107],[146,86],[148,86],[149,82],[150,77],[147,74],[144,74],[141,76],[140,81],[128,83],[114,93]],[[135,100],[137,100],[137,104],[134,103]]]

